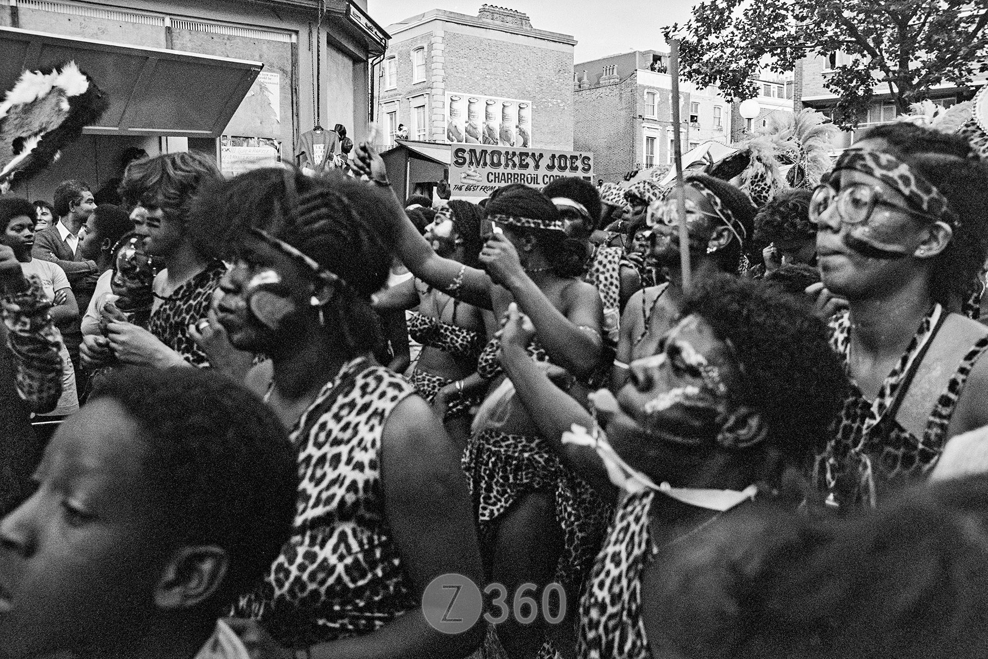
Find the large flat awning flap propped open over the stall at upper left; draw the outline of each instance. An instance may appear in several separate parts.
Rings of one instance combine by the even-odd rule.
[[[99,125],[85,132],[114,135],[218,136],[264,67],[244,59],[3,27],[0,52],[0,94],[25,70],[75,60],[110,96]]]

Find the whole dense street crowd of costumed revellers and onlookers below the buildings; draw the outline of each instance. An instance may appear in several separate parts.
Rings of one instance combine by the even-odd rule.
[[[722,172],[0,197],[0,653],[984,656],[988,165]]]

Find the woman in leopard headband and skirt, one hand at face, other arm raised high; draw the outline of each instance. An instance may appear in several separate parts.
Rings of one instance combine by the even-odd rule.
[[[372,178],[386,174],[374,149],[356,149],[355,169]],[[577,279],[585,268],[586,252],[577,241],[567,242],[564,223],[555,206],[537,191],[522,185],[500,189],[485,207],[492,223],[480,253],[485,270],[467,268],[443,259],[419,235],[393,194],[381,193],[377,216],[394,238],[398,258],[416,277],[503,316],[516,302],[538,330],[538,340],[553,365],[576,377],[586,377],[598,366],[602,353],[602,308],[597,290]],[[503,375],[492,382],[497,392]],[[509,386],[510,383],[508,383]],[[493,393],[491,394],[493,395]],[[603,519],[605,506],[585,483],[548,453],[538,439],[526,410],[507,397],[499,412],[487,415],[490,423],[475,421],[476,432],[464,454],[474,505],[484,538],[490,581],[515,593],[526,583],[535,592],[557,574],[570,600],[585,574],[594,544],[603,531],[593,521]],[[493,399],[481,406],[478,417]],[[585,494],[586,493],[586,494]],[[606,514],[606,513],[605,513]],[[590,522],[588,524],[588,522]],[[567,557],[581,557],[566,564]],[[572,644],[572,625],[546,630],[540,620],[523,622],[509,617],[497,635],[510,656],[531,657],[551,635],[563,646]]]

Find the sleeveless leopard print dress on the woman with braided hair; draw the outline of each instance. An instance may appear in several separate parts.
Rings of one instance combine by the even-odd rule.
[[[364,358],[326,383],[291,431],[298,451],[294,531],[234,615],[288,647],[359,636],[418,602],[384,515],[381,437],[415,390]]]

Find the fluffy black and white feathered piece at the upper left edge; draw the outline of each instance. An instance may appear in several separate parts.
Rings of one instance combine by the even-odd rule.
[[[74,61],[25,71],[0,103],[0,186],[47,167],[109,106],[106,93]]]

